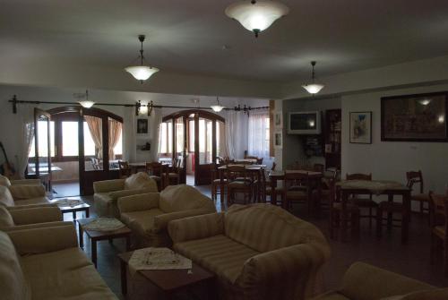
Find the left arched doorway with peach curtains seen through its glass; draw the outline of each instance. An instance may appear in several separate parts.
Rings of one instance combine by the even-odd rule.
[[[63,173],[77,176],[78,194],[92,194],[94,181],[118,177],[122,124],[121,116],[96,107],[36,109],[35,151],[29,159],[36,176],[47,176],[50,183],[64,181]]]

